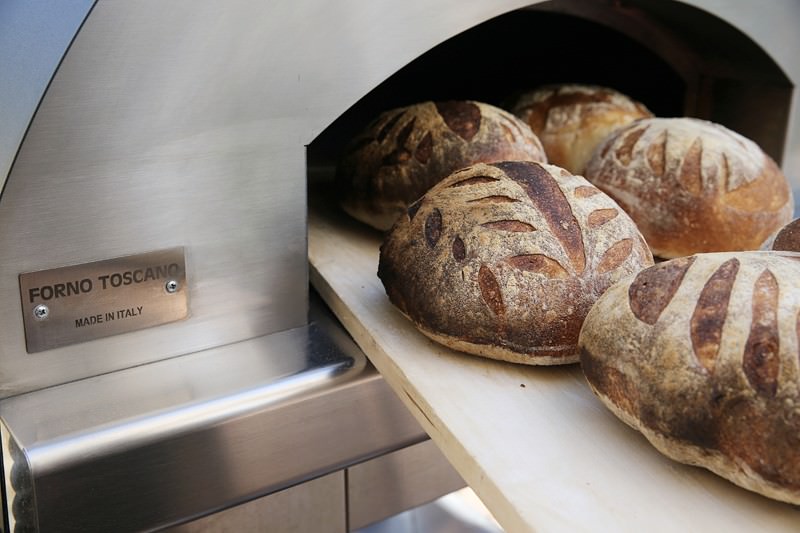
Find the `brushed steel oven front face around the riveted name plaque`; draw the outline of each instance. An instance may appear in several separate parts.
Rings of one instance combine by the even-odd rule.
[[[0,397],[303,324],[304,144],[406,62],[525,3],[98,2],[0,198]],[[174,246],[190,319],[25,354],[18,273]]]

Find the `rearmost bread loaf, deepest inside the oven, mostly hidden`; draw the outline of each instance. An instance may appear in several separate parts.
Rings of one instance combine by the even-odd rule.
[[[512,108],[539,137],[550,163],[583,174],[600,142],[634,120],[652,117],[639,102],[607,87],[548,85],[523,94]]]

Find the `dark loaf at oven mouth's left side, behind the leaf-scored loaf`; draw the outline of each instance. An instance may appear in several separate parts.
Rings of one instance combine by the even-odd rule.
[[[348,147],[337,169],[340,204],[356,219],[387,230],[451,172],[506,159],[546,160],[531,129],[502,109],[471,101],[394,109]]]

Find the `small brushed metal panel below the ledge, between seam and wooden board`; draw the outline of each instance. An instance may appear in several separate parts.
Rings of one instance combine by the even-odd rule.
[[[347,469],[350,529],[366,527],[465,486],[430,440],[351,466]]]

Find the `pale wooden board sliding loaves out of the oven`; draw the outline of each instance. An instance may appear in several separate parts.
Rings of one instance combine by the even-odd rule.
[[[662,456],[577,365],[527,367],[428,340],[376,276],[381,234],[312,205],[313,285],[498,522],[517,531],[798,531],[800,510]]]

